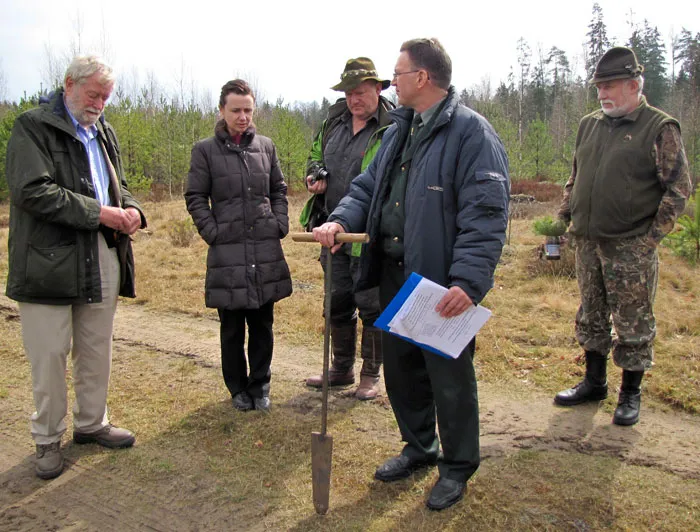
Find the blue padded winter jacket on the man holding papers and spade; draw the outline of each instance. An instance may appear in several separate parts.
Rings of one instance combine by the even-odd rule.
[[[394,124],[381,148],[329,221],[367,232],[357,289],[379,284],[382,204],[389,176],[408,134],[413,110],[391,112]],[[430,134],[418,146],[408,175],[404,270],[443,286],[459,286],[480,302],[493,286],[508,225],[508,158],[485,118],[459,104],[454,87]]]

